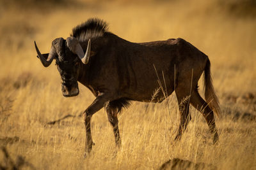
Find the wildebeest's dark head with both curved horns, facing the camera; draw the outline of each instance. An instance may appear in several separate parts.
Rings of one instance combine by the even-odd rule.
[[[61,91],[63,96],[72,97],[79,94],[77,78],[79,63],[87,64],[90,59],[91,41],[88,40],[86,53],[79,41],[74,37],[56,38],[52,41],[51,51],[41,54],[35,43],[38,58],[45,67],[51,65],[52,60],[56,59],[56,65],[61,75]]]

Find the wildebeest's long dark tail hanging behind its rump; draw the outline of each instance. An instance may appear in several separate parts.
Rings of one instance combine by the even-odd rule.
[[[216,96],[212,85],[212,77],[211,77],[211,62],[207,58],[207,62],[204,69],[204,90],[205,90],[205,101],[209,104],[211,110],[216,113],[216,115],[220,118],[221,110],[219,106],[219,100]]]

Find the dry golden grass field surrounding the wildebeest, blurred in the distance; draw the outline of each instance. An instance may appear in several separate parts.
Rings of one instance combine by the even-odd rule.
[[[11,168],[10,159],[19,164],[22,158],[27,162],[22,169],[159,169],[179,158],[214,169],[256,169],[256,5],[251,3],[0,1],[0,167]],[[122,111],[122,147],[116,156],[106,112],[97,112],[92,118],[95,146],[84,159],[79,115],[94,96],[79,84],[79,96],[63,97],[56,66],[42,66],[33,41],[47,53],[53,39],[67,38],[72,27],[91,17],[106,20],[109,31],[129,41],[180,37],[207,54],[222,110],[216,118],[220,144],[212,145],[204,118],[192,106],[186,132],[174,142],[179,110],[173,93],[163,103],[132,102]],[[47,124],[66,115],[74,117]]]

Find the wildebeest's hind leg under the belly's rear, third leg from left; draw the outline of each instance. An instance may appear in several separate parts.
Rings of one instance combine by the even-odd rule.
[[[189,120],[191,120],[191,116],[189,115],[189,91],[184,92],[183,89],[176,89],[176,96],[179,103],[179,111],[180,111],[180,125],[177,136],[175,137],[175,141],[179,140],[186,130],[188,126]]]

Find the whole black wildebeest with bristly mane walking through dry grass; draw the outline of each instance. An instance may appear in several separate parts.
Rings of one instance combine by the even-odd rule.
[[[218,133],[212,110],[218,114],[220,107],[212,87],[207,55],[181,38],[131,43],[108,32],[107,27],[106,22],[91,18],[74,27],[67,39],[54,39],[50,53],[41,54],[35,43],[38,58],[45,67],[56,59],[63,81],[63,96],[77,96],[79,81],[96,97],[83,114],[85,152],[89,153],[93,145],[90,120],[101,108],[105,107],[113,126],[116,145],[120,146],[117,113],[124,106],[129,106],[129,101],[161,102],[174,90],[180,110],[180,126],[175,139],[180,139],[191,119],[190,103],[202,112],[213,143],[216,143]],[[203,72],[207,102],[197,90]],[[163,78],[159,75],[163,75]],[[166,90],[156,94],[159,88]]]

